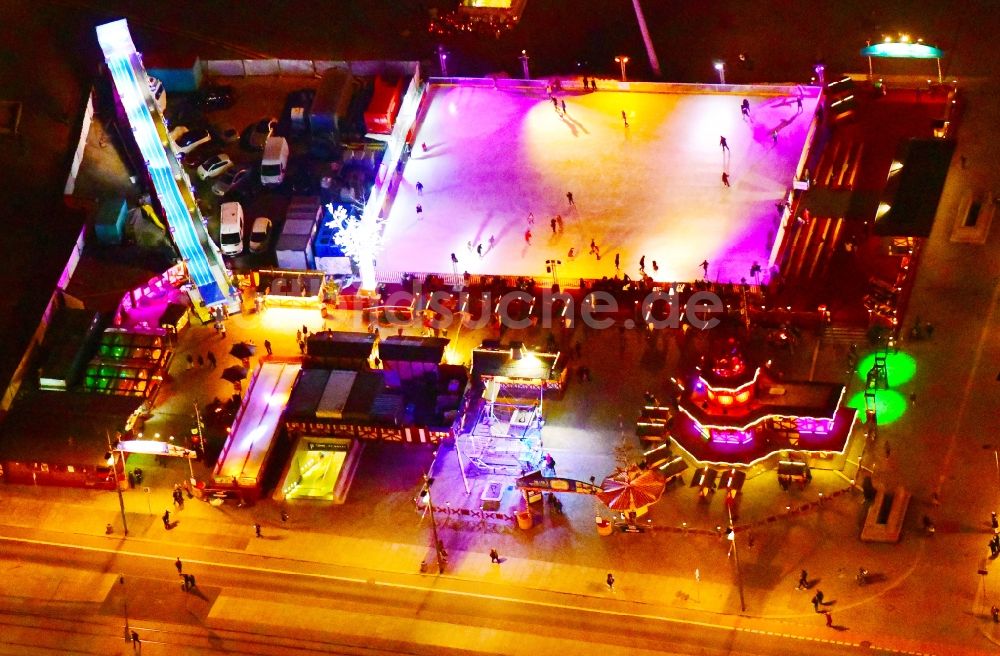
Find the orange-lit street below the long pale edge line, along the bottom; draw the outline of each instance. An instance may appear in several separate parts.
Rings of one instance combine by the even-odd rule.
[[[504,596],[489,587],[463,589],[447,580],[414,577],[410,583],[350,576],[278,571],[252,564],[186,561],[198,590],[180,589],[172,559],[162,555],[109,553],[74,546],[4,541],[3,569],[25,581],[60,581],[55,598],[7,597],[0,607],[0,653],[107,654],[123,648],[122,612],[143,636],[144,652],[155,654],[484,654],[572,651],[576,653],[767,654],[872,653],[867,646],[817,641],[789,633],[764,632],[736,620],[693,621],[666,617],[661,609],[630,602],[563,596]],[[282,566],[288,566],[285,561]],[[297,568],[296,568],[297,569]],[[74,572],[66,577],[66,571]],[[72,602],[74,580],[122,573],[97,601]],[[95,579],[96,580],[96,579]],[[444,585],[442,585],[444,584]],[[65,585],[65,587],[63,587]],[[84,586],[86,587],[86,586]],[[96,586],[99,588],[100,586]],[[66,593],[62,599],[59,590]],[[123,594],[123,590],[125,591]],[[99,595],[100,596],[100,595]],[[256,620],[221,622],[221,598],[235,598]],[[349,616],[362,621],[295,628],[296,622],[269,613],[276,602],[294,604],[304,615]],[[213,610],[213,607],[216,607]],[[224,612],[224,611],[220,611]],[[317,614],[318,613],[318,614]],[[210,616],[211,614],[211,616]],[[301,618],[300,618],[301,619]],[[397,632],[394,626],[416,627]],[[222,625],[226,628],[219,628]],[[461,644],[466,632],[477,636]],[[450,636],[450,637],[449,637]],[[457,643],[457,644],[456,644]],[[512,645],[516,648],[512,649]]]

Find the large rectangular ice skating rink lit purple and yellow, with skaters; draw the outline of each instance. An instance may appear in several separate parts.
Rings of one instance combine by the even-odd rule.
[[[614,276],[618,255],[621,273],[636,277],[645,256],[646,272],[661,281],[701,278],[703,260],[712,280],[752,280],[754,263],[766,275],[775,203],[791,186],[818,89],[662,88],[673,92],[614,85],[557,93],[563,113],[540,89],[432,85],[388,216],[380,274],[544,278],[546,260],[556,259],[559,277],[569,281]],[[740,111],[744,98],[749,120]],[[557,215],[563,229],[553,233]],[[591,240],[600,259],[590,254]]]

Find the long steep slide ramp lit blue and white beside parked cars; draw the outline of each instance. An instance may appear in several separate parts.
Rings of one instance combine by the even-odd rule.
[[[154,105],[148,77],[128,25],[124,20],[99,25],[97,39],[188,275],[206,305],[221,303],[230,288],[222,256],[205,230],[183,170],[163,144],[160,132],[166,134],[166,125],[150,111]]]

